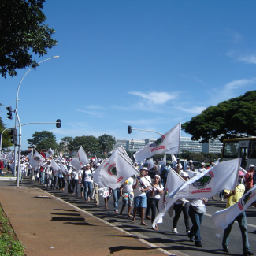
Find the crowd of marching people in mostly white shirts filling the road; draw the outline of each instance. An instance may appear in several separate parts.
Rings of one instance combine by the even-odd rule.
[[[36,164],[38,162],[40,164]],[[95,172],[97,172],[97,169],[104,165],[105,162],[107,162],[107,159],[90,159],[86,164],[79,165],[80,168],[76,168],[76,165],[72,163],[72,159],[67,160],[60,156],[54,157],[54,150],[49,150],[48,154],[44,155],[44,158],[38,153],[22,156],[20,158],[19,178],[20,181],[22,181],[22,177],[29,176],[32,180],[52,190],[57,189],[64,191],[65,187],[67,187],[68,192],[72,196],[83,198],[84,202],[92,201],[95,203],[95,206],[99,205],[101,195],[102,200],[105,202],[106,209],[108,209],[110,196],[113,196],[114,214],[123,215],[124,211],[127,211],[127,213],[125,213],[127,217],[131,218],[133,223],[136,223],[136,216],[139,213],[140,224],[147,225],[144,221],[145,219],[151,220],[153,224],[155,217],[158,215],[158,205],[160,199],[165,197],[165,185],[171,169],[174,170],[180,178],[187,181],[198,173],[202,173],[206,171],[206,169],[211,169],[217,164],[217,162],[211,162],[210,165],[206,167],[205,163],[202,162],[201,168],[195,169],[192,160],[184,161],[184,165],[181,165],[175,158],[173,159],[172,167],[169,162],[163,165],[162,162],[158,160],[152,164],[152,159],[148,161],[147,165],[146,163],[139,164],[134,162],[134,169],[137,170],[137,173],[128,177],[120,187],[112,188],[109,186],[99,186],[100,184],[97,184],[95,180]],[[9,169],[13,172],[13,158],[9,155],[2,155],[2,160],[0,161],[1,175],[3,175],[2,169],[4,165],[8,165]],[[239,171],[235,190],[225,190],[225,187],[223,187],[223,190],[220,192],[220,200],[227,200],[227,208],[233,206],[239,202],[239,199],[243,196],[245,191],[250,190],[255,183],[256,173],[254,172],[254,165],[250,165],[248,172],[244,170]],[[119,211],[118,202],[120,198],[122,198],[122,206]],[[214,199],[215,198],[213,198],[213,200]],[[183,213],[186,235],[191,242],[195,242],[195,246],[197,247],[203,247],[200,236],[200,226],[203,221],[204,213],[206,213],[207,201],[208,198],[179,198],[173,204],[173,233],[178,233],[177,224],[181,213]],[[127,210],[125,210],[126,207]],[[224,230],[222,242],[224,252],[229,252],[229,234],[234,221],[228,224],[228,228]],[[243,254],[253,255],[254,253],[250,252],[248,242],[246,214],[244,212],[239,214],[239,216],[236,217],[236,221],[238,221],[242,233]],[[154,224],[153,227],[154,230],[158,230],[158,224]]]

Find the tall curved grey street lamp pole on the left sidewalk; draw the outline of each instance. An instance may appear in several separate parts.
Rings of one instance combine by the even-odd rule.
[[[54,59],[54,58],[59,58],[59,56],[54,56],[52,58],[47,58],[46,60],[44,61],[49,61],[51,59]],[[44,61],[40,61],[38,64],[44,62]],[[28,72],[30,72],[33,68],[29,69]],[[18,88],[17,88],[17,94],[16,94],[16,109],[15,109],[15,113],[16,113],[16,117],[15,117],[15,128],[17,128],[17,121],[19,121],[19,124],[20,124],[20,117],[19,117],[19,114],[18,114],[18,98],[19,98],[19,90],[20,90],[20,84],[21,82],[24,80],[24,77],[27,76],[28,72],[26,72],[24,74],[24,76],[21,78],[20,80],[20,83],[18,85]],[[20,180],[20,146],[21,146],[21,124],[19,125],[19,152],[18,152],[18,169],[17,169],[17,187],[19,187],[19,180]],[[14,173],[16,172],[16,146],[14,146]]]

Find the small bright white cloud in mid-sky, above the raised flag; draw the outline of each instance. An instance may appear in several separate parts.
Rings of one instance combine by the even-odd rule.
[[[170,99],[176,98],[177,94],[173,93],[173,95],[169,94],[168,92],[156,92],[152,91],[149,93],[143,93],[140,91],[130,91],[129,94],[137,95],[139,97],[145,98],[148,100],[149,103],[154,105],[161,105],[168,102]]]

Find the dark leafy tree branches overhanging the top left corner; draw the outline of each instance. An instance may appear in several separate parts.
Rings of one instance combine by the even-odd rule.
[[[43,56],[57,41],[53,28],[45,24],[45,0],[0,1],[0,72],[17,76],[16,69],[35,68],[32,53]]]

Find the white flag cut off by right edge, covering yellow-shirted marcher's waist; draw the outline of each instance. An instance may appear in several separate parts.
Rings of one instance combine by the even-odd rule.
[[[220,237],[224,232],[224,229],[228,227],[228,224],[234,221],[240,213],[247,210],[254,201],[256,201],[256,185],[250,188],[250,190],[247,191],[235,205],[214,213],[212,218],[217,227],[216,236]]]

